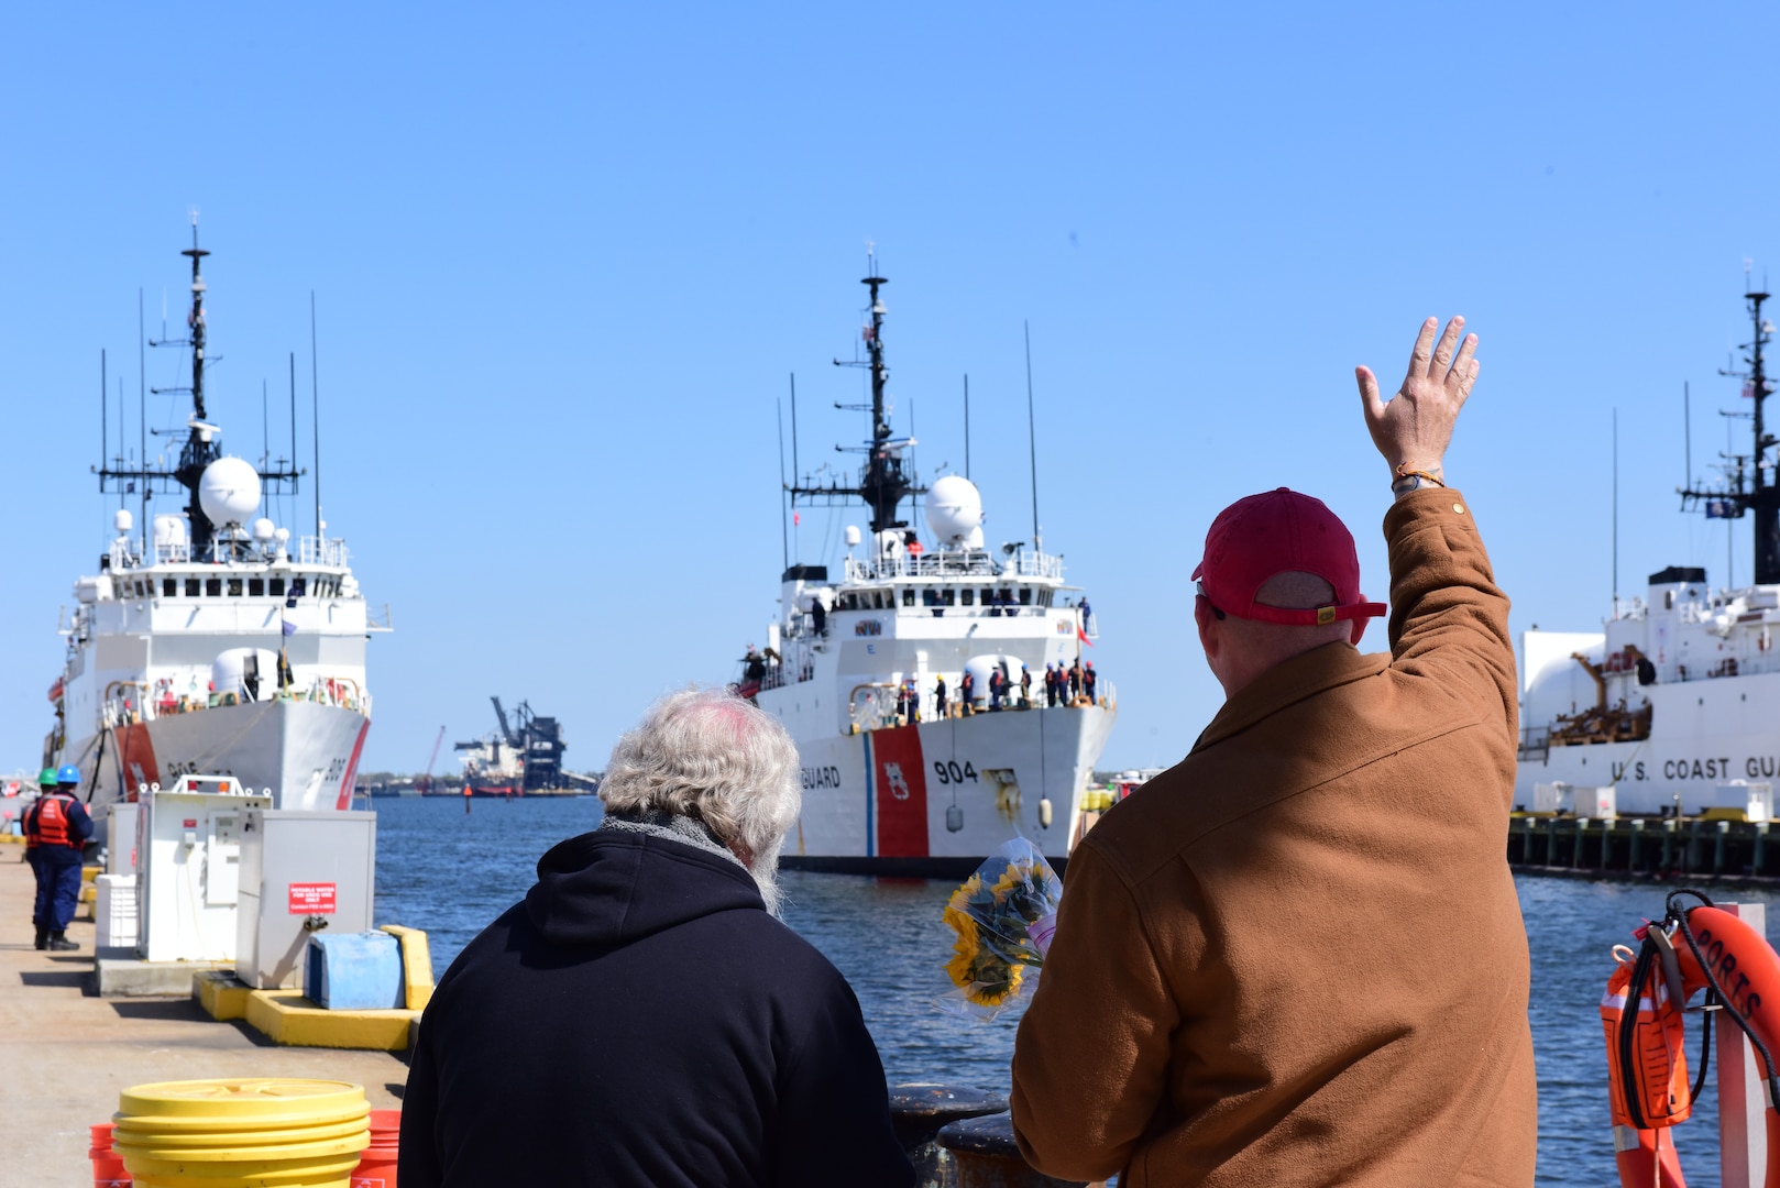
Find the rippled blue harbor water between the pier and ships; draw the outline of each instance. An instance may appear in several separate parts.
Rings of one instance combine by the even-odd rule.
[[[600,803],[452,798],[376,800],[377,919],[425,928],[438,972],[534,880],[538,857],[600,821]],[[933,1006],[947,989],[951,932],[940,908],[952,883],[787,871],[785,919],[847,976],[892,1081],[956,1081],[1006,1092],[1018,1012],[991,1022]],[[1533,951],[1533,1042],[1540,1072],[1540,1184],[1616,1184],[1607,1127],[1607,1060],[1597,1005],[1609,949],[1663,889],[1547,878],[1520,880]],[[1766,892],[1727,899],[1775,903]],[[1769,907],[1769,914],[1775,908]],[[1696,1033],[1693,1033],[1696,1037]],[[1689,1040],[1689,1060],[1696,1047]],[[1718,1184],[1718,1110],[1707,1085],[1677,1143],[1695,1188]]]

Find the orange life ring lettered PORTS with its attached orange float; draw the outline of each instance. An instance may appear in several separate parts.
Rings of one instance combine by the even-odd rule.
[[[1702,907],[1680,908],[1677,898],[1693,896]],[[1622,1188],[1684,1188],[1675,1142],[1663,1131],[1693,1113],[1698,1085],[1687,1079],[1682,1051],[1682,1010],[1689,997],[1707,990],[1721,1013],[1750,1037],[1768,1081],[1768,1172],[1766,1186],[1780,1188],[1780,1113],[1775,1101],[1780,1060],[1780,955],[1766,937],[1743,919],[1712,907],[1696,891],[1670,894],[1661,924],[1638,930],[1643,942],[1636,958],[1620,948],[1620,958],[1600,999],[1600,1022],[1607,1040],[1607,1095],[1613,1111],[1613,1152]],[[1711,1033],[1703,1037],[1711,1040]],[[1702,1047],[1700,1078],[1709,1049]]]

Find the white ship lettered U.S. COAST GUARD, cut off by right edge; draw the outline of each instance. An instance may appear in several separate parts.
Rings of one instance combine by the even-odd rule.
[[[1773,324],[1766,292],[1744,301],[1748,370],[1727,374],[1753,401],[1753,451],[1725,460],[1723,484],[1679,493],[1709,518],[1752,515],[1755,582],[1714,590],[1703,568],[1670,566],[1645,597],[1616,598],[1598,632],[1525,632],[1515,794],[1525,809],[1552,807],[1538,785],[1568,784],[1613,787],[1618,812],[1696,814],[1743,807],[1744,785],[1780,778],[1780,486],[1764,431]]]

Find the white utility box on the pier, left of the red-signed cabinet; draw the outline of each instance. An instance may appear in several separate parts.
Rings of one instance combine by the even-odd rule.
[[[242,814],[269,794],[233,778],[183,777],[137,801],[137,942],[150,962],[235,960]]]

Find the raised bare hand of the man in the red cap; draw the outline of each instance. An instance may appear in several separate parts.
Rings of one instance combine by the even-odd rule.
[[[1465,335],[1460,342],[1465,319],[1454,317],[1436,344],[1438,326],[1436,317],[1422,322],[1415,351],[1410,353],[1410,374],[1403,378],[1403,387],[1388,403],[1380,399],[1378,376],[1371,367],[1360,365],[1353,372],[1360,381],[1365,427],[1372,435],[1372,445],[1390,465],[1392,477],[1419,470],[1444,479],[1445,449],[1452,442],[1458,410],[1465,406],[1470,385],[1477,381],[1477,360],[1472,358],[1477,351],[1477,335]]]

